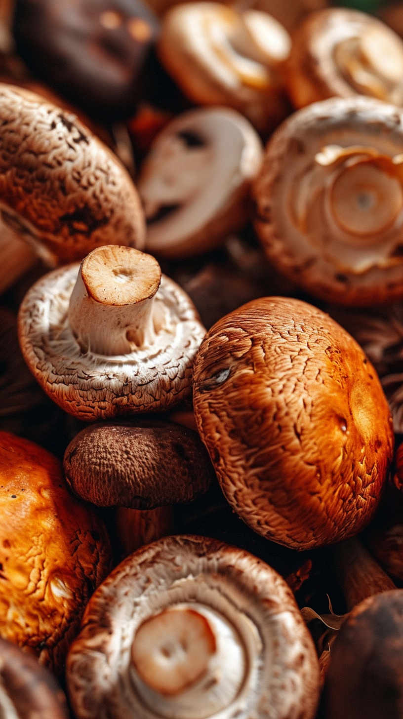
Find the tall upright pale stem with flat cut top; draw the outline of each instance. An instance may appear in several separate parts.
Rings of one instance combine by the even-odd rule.
[[[81,262],[68,319],[81,352],[130,354],[153,344],[161,329],[153,308],[157,260],[132,247],[107,245]]]

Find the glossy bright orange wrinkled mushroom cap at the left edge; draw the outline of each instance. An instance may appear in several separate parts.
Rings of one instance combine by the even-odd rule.
[[[0,432],[0,634],[60,673],[110,565],[103,523],[68,492],[60,462]]]

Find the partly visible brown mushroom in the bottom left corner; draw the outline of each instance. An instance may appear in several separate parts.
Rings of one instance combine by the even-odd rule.
[[[65,695],[53,674],[34,656],[1,638],[0,681],[0,710],[5,719],[68,719]]]

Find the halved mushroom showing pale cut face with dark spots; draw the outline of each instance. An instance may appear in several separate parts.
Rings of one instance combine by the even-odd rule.
[[[261,139],[234,110],[176,117],[158,134],[138,180],[146,249],[161,257],[197,255],[241,229],[262,157]]]

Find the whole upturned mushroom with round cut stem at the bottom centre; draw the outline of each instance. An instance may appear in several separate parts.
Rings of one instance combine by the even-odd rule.
[[[217,540],[176,536],[99,587],[67,681],[78,719],[311,719],[319,672],[279,574]]]

